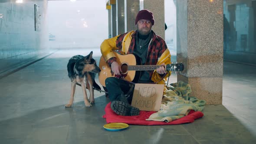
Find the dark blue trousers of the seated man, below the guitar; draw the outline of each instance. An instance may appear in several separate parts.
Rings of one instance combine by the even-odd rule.
[[[119,95],[128,95],[126,96],[129,104],[131,104],[132,95],[134,91],[134,84],[127,82],[122,79],[115,77],[109,77],[105,79],[106,88],[108,89],[108,97],[110,101],[115,101]],[[132,88],[132,89],[131,89]],[[131,89],[131,91],[130,91]],[[130,91],[130,92],[129,92]],[[128,93],[129,92],[129,93]]]

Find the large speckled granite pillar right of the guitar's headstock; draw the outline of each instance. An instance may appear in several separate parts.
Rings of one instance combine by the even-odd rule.
[[[223,0],[177,0],[177,80],[207,105],[222,104]]]

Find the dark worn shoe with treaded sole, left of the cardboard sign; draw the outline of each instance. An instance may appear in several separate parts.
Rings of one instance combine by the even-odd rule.
[[[118,115],[128,116],[128,115],[139,115],[140,110],[138,108],[132,107],[124,101],[112,101],[111,108]]]

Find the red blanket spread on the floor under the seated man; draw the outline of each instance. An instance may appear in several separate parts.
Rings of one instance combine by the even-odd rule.
[[[105,115],[103,118],[106,118],[107,123],[113,122],[122,122],[126,124],[135,124],[135,125],[168,125],[168,124],[184,124],[192,123],[197,118],[202,118],[203,113],[201,111],[191,110],[187,116],[184,116],[180,119],[171,122],[163,121],[146,121],[145,119],[149,118],[151,114],[154,114],[156,111],[140,111],[140,115],[136,116],[121,116],[117,115],[111,108],[111,102],[109,102],[105,107]]]

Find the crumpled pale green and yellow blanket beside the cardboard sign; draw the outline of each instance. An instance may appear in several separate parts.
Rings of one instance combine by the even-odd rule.
[[[189,84],[179,81],[167,86],[160,111],[150,115],[147,121],[170,122],[186,116],[190,110],[202,111],[206,101],[189,97],[192,92]]]

